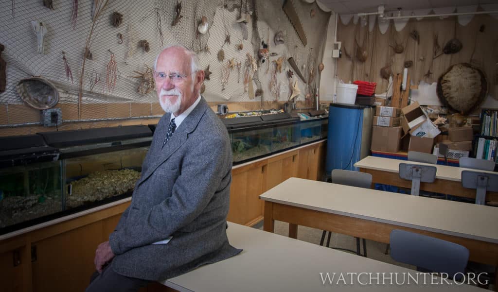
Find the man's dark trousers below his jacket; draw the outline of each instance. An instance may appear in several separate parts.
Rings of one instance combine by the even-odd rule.
[[[102,274],[95,271],[85,292],[136,292],[149,281],[120,275],[108,265]]]

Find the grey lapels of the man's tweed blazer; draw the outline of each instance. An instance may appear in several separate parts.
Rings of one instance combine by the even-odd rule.
[[[167,120],[168,123],[165,122],[161,125],[161,130],[158,133],[159,136],[157,137],[157,140],[155,141],[153,147],[155,148],[155,150],[153,150],[153,153],[151,153],[152,155],[150,156],[150,167],[147,167],[147,170],[142,175],[141,181],[138,185],[146,181],[161,164],[168,160],[168,158],[171,157],[171,155],[173,155],[173,153],[175,153],[180,148],[180,146],[185,143],[185,141],[187,141],[188,135],[195,130],[208,107],[209,106],[204,100],[204,97],[201,97],[201,100],[199,101],[197,106],[182,121],[178,129],[174,132],[171,138],[169,138],[166,145],[162,147],[162,143],[164,141],[164,138],[166,137],[166,131],[169,125],[169,118],[166,119],[165,117],[165,120]]]

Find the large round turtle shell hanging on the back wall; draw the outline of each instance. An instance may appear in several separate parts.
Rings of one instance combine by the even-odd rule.
[[[436,93],[443,104],[467,114],[488,94],[488,82],[479,68],[460,63],[451,66],[439,77]]]

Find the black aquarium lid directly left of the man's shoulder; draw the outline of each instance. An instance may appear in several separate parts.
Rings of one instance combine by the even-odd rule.
[[[146,125],[132,125],[37,134],[42,136],[49,146],[70,147],[149,137],[152,136],[152,131]]]

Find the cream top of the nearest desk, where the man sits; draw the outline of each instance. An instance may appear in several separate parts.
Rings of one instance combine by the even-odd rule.
[[[244,249],[242,253],[227,260],[200,267],[161,284],[180,292],[358,290],[381,292],[425,291],[426,289],[483,291],[467,285],[421,285],[422,278],[419,278],[418,286],[362,286],[356,280],[354,280],[355,285],[344,285],[342,282],[342,285],[336,285],[341,273],[344,276],[347,275],[346,273],[382,272],[415,275],[415,271],[230,222],[227,234],[233,246]],[[332,285],[329,282],[323,285],[320,273],[324,273],[323,275],[330,273],[331,277],[332,273],[336,273],[336,279],[333,280]],[[402,281],[402,278],[399,279]],[[347,280],[347,283],[349,284],[350,281],[351,278]],[[360,278],[360,281],[366,283],[367,280]],[[386,280],[385,283],[387,284],[388,281]],[[395,283],[394,279],[392,281]]]

